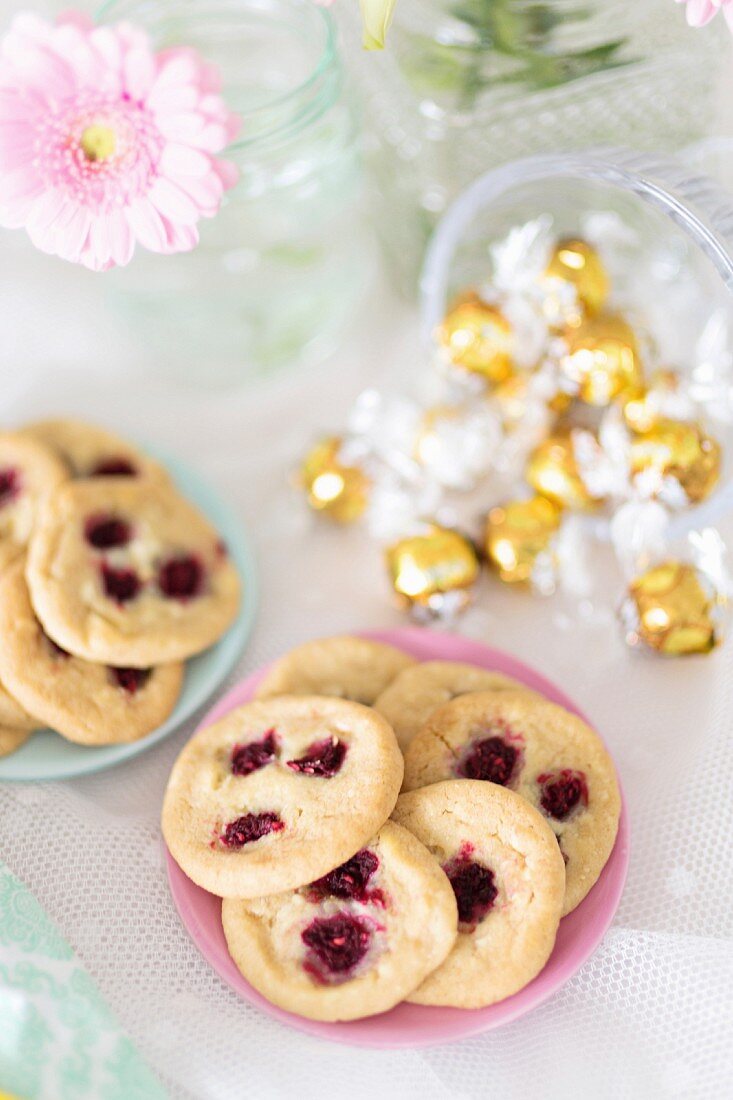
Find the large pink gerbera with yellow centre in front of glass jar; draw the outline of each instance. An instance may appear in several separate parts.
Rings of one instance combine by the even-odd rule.
[[[19,15],[0,50],[0,224],[92,271],[186,252],[219,209],[237,121],[193,50],[129,23]]]

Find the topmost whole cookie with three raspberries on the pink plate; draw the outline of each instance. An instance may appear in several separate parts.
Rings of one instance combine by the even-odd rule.
[[[392,813],[403,759],[359,703],[285,695],[199,730],[163,803],[171,855],[222,898],[295,890],[350,859]]]

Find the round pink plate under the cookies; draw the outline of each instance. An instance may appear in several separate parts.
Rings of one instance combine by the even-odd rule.
[[[504,672],[528,688],[541,692],[581,717],[578,707],[554,684],[514,657],[490,649],[457,635],[439,634],[417,627],[400,630],[362,630],[365,638],[398,646],[424,661],[467,661],[484,669]],[[266,670],[252,673],[225,695],[204,721],[210,725],[233,707],[247,703]],[[586,719],[587,721],[587,719]],[[466,1038],[508,1023],[541,1004],[576,974],[601,942],[619,906],[628,867],[628,820],[622,806],[619,836],[601,877],[581,904],[560,922],[555,949],[534,981],[514,997],[488,1009],[430,1009],[418,1004],[398,1004],[391,1012],[349,1023],[319,1023],[293,1015],[270,1004],[242,978],[227,950],[221,927],[221,901],[195,886],[166,851],[171,893],[180,919],[194,943],[217,974],[245,1001],[255,1004],[284,1024],[320,1038],[353,1046],[386,1048],[429,1046]]]

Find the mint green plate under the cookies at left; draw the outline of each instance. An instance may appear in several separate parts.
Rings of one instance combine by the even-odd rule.
[[[209,698],[231,672],[244,649],[254,625],[258,588],[254,558],[242,524],[214,490],[187,465],[151,447],[145,447],[145,450],[165,465],[182,494],[208,516],[226,542],[242,578],[243,600],[239,617],[216,646],[187,662],[186,678],[175,711],[147,737],[131,745],[88,748],[74,745],[51,729],[40,729],[22,748],[0,758],[0,781],[74,779],[111,768],[144,752],[172,734]]]

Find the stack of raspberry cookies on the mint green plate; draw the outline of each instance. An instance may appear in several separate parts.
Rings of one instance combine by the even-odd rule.
[[[134,741],[230,626],[237,570],[166,472],[92,425],[0,433],[0,756]]]

